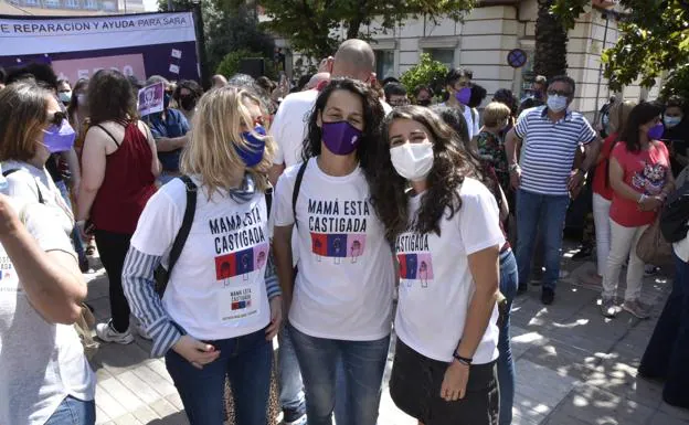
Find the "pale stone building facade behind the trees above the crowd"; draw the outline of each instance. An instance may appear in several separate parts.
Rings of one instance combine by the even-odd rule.
[[[612,93],[601,73],[601,52],[617,40],[617,22],[611,13],[604,19],[601,1],[581,15],[569,32],[568,74],[576,82],[572,107],[593,118],[595,111]],[[611,2],[612,3],[612,2]],[[606,4],[603,4],[606,6]],[[393,30],[384,31],[373,22],[362,32],[373,35],[379,79],[399,77],[418,63],[422,53],[431,54],[447,66],[463,66],[474,71],[474,79],[488,91],[489,102],[498,88],[510,88],[518,97],[534,77],[537,0],[484,0],[467,14],[464,22],[441,19],[410,19]],[[344,33],[342,33],[344,35]],[[288,49],[285,40],[277,45]],[[527,53],[524,66],[508,64],[508,53],[521,49]],[[293,54],[293,61],[299,60]],[[654,98],[657,86],[644,91],[638,85],[625,87],[621,94],[627,99]]]

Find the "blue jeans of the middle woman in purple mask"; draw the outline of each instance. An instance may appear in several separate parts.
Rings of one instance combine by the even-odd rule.
[[[309,425],[332,424],[336,386],[340,389],[336,385],[340,359],[347,416],[337,417],[338,425],[375,425],[390,336],[375,341],[343,341],[310,337],[292,325],[288,327],[304,378]]]

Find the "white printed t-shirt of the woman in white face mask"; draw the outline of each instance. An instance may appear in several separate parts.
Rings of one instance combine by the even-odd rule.
[[[501,246],[495,196],[477,180],[465,179],[459,189],[462,208],[441,222],[441,235],[405,232],[395,243],[400,265],[400,295],[395,332],[416,352],[443,362],[453,360],[469,304],[476,290],[468,255]],[[410,217],[415,217],[423,194],[410,199]],[[494,308],[474,363],[498,358],[498,309]]]

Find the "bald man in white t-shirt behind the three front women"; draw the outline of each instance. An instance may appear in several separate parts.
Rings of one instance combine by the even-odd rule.
[[[373,59],[373,60],[371,60]],[[347,40],[338,49],[335,57],[328,57],[325,64],[330,77],[348,77],[371,83],[375,78],[375,54],[369,43],[361,40]],[[293,93],[285,97],[271,126],[271,135],[277,142],[277,152],[273,159],[269,172],[271,182],[277,184],[277,179],[285,171],[301,162],[301,147],[307,134],[307,123],[316,105],[319,91]],[[392,110],[383,103],[385,113]],[[296,233],[295,233],[296,234]],[[293,241],[293,245],[294,241]],[[293,248],[295,261],[298,252]],[[280,404],[285,414],[285,424],[301,424],[303,412],[306,412],[301,374],[299,364],[286,331],[279,334],[279,380]]]

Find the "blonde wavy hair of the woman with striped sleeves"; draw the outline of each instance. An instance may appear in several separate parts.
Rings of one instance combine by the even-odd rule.
[[[258,107],[262,105],[250,91],[231,86],[213,89],[199,102],[180,170],[186,174],[200,174],[209,196],[218,189],[230,189],[233,182],[229,171],[237,168],[245,169],[253,177],[259,191],[269,187],[267,172],[273,164],[275,142],[272,137],[254,131],[246,102],[254,102]],[[253,149],[242,137],[243,127],[265,141],[263,159],[252,168],[246,167],[235,150],[235,147]]]

